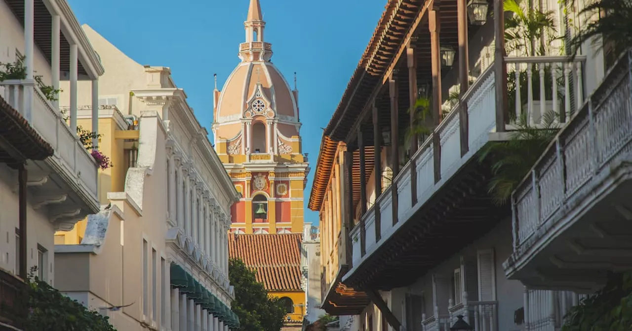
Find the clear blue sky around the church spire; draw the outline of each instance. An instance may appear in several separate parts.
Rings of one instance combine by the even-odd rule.
[[[87,23],[140,64],[171,67],[200,123],[210,132],[213,74],[222,86],[238,64],[250,0],[69,0]],[[312,171],[305,189],[305,221],[321,127],[331,119],[386,0],[260,0],[272,62],[293,84],[298,74],[303,150]],[[107,68],[106,68],[107,70]],[[309,78],[309,79],[308,79]],[[221,88],[221,87],[220,87]],[[212,137],[210,137],[212,139]]]

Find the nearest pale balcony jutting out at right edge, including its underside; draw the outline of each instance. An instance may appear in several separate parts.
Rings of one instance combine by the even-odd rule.
[[[509,278],[590,292],[632,267],[631,62],[619,59],[514,192]]]

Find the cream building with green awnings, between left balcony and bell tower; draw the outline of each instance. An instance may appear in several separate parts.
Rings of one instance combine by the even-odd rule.
[[[112,167],[100,172],[103,210],[77,231],[58,233],[59,290],[110,316],[118,330],[238,328],[228,281],[238,194],[206,129],[168,67],[142,66],[83,30],[107,68],[97,120]],[[79,108],[79,124],[91,129],[93,108]]]

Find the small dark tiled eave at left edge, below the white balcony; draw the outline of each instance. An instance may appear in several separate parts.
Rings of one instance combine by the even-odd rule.
[[[0,96],[0,163],[23,164],[53,153],[51,145]]]

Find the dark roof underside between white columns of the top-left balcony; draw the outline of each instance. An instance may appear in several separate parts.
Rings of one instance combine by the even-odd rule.
[[[24,27],[24,0],[4,0],[13,11],[16,19],[20,21],[20,25]],[[46,8],[46,4],[42,0],[35,0],[35,20],[33,26],[33,37],[35,45],[44,54],[48,64],[52,63],[52,16],[51,12]],[[70,43],[68,39],[61,33],[59,49],[59,70],[70,72]],[[88,76],[87,70],[83,67],[81,61],[78,61],[78,74]]]

